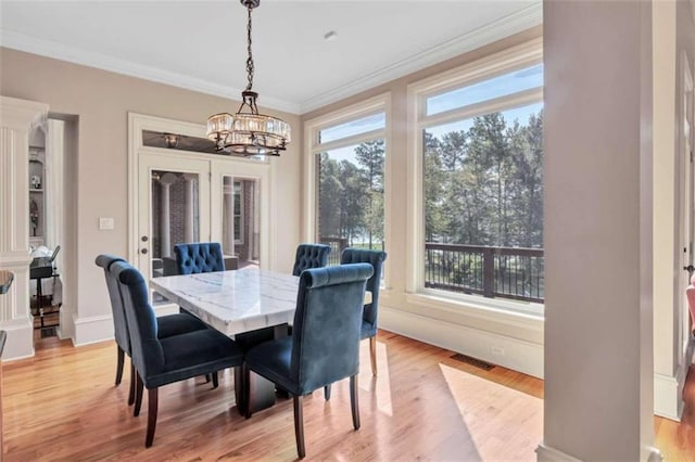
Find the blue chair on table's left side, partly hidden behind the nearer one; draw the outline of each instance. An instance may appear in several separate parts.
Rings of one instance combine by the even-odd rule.
[[[121,384],[123,378],[123,367],[125,362],[125,356],[131,357],[130,354],[130,335],[128,333],[128,325],[126,323],[125,307],[123,305],[123,298],[118,287],[118,281],[111,272],[111,266],[116,261],[125,261],[123,258],[115,255],[101,254],[97,257],[97,266],[103,268],[104,277],[106,279],[106,288],[109,290],[109,298],[111,299],[111,311],[113,316],[113,330],[117,348],[117,362],[116,362],[116,386]],[[156,318],[157,335],[160,338],[170,337],[172,335],[178,335],[186,332],[200,331],[208,329],[200,319],[191,315],[168,315]],[[135,368],[132,361],[130,362],[130,392],[128,394],[128,405],[135,402]]]

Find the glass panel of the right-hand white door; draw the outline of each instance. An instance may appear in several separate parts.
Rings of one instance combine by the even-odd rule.
[[[222,247],[236,257],[232,267],[257,266],[260,256],[260,188],[253,178],[223,177]],[[229,267],[229,262],[226,262]]]

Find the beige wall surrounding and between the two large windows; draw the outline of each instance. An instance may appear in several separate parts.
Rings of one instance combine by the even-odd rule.
[[[391,139],[387,166],[386,188],[390,208],[390,229],[387,235],[386,261],[388,287],[382,291],[379,323],[382,328],[402,333],[444,348],[462,351],[497,364],[535,376],[543,375],[543,319],[516,313],[497,313],[467,304],[462,308],[441,300],[424,299],[408,293],[408,279],[414,278],[407,262],[408,243],[405,230],[408,221],[408,123],[407,87],[424,78],[479,60],[515,44],[536,39],[542,35],[538,26],[480,49],[462,54],[434,66],[381,85],[343,101],[304,114],[304,123],[383,93],[391,94]],[[304,154],[306,155],[306,153]],[[304,169],[306,171],[306,168]],[[312,182],[312,178],[304,178]],[[306,201],[306,197],[303,197]],[[306,235],[305,230],[303,230]],[[504,355],[493,352],[502,349]]]

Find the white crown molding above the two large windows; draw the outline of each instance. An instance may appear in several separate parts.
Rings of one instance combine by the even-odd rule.
[[[695,1],[695,0],[694,0]],[[501,20],[478,27],[454,39],[432,47],[410,57],[352,80],[342,87],[302,102],[300,114],[306,114],[336,101],[368,90],[425,67],[458,56],[493,41],[518,34],[543,23],[543,3],[538,2]]]

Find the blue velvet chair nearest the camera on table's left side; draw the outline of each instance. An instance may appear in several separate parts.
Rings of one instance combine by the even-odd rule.
[[[160,338],[154,310],[148,300],[142,274],[125,261],[111,266],[119,283],[130,334],[131,360],[138,387],[148,389],[148,429],[144,446],[154,440],[159,387],[197,375],[211,374],[243,363],[243,352],[227,335],[203,329]],[[140,412],[142,393],[136,397],[136,415]]]

